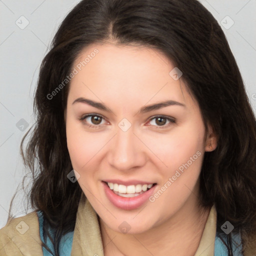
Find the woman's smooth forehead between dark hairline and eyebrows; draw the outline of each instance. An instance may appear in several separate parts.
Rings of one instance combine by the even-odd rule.
[[[175,68],[171,61],[146,46],[91,44],[80,52],[73,68],[77,70],[70,81],[73,99],[85,94],[123,105],[170,98],[186,103],[191,99],[182,80],[170,75]]]

